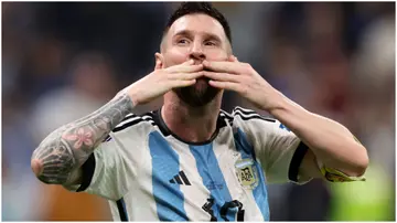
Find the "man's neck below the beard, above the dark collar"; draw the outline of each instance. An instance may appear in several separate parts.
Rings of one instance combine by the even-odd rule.
[[[210,140],[216,131],[216,121],[221,109],[222,94],[207,105],[191,107],[173,92],[164,95],[161,116],[167,127],[185,141],[201,142]]]

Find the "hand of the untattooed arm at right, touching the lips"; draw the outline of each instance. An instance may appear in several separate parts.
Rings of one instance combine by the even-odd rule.
[[[281,94],[266,82],[248,63],[240,63],[232,56],[227,62],[204,61],[204,76],[210,85],[237,92],[259,109],[270,110],[278,106]]]

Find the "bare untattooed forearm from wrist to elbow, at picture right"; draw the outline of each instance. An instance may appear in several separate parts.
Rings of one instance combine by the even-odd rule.
[[[348,176],[364,173],[368,157],[366,149],[341,124],[310,113],[279,95],[277,107],[269,113],[293,131],[324,166]]]

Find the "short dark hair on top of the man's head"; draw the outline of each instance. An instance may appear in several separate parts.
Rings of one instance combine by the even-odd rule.
[[[232,44],[232,31],[226,18],[217,9],[215,9],[210,2],[182,2],[181,6],[171,14],[167,23],[167,26],[164,29],[164,34],[175,22],[175,20],[186,14],[195,14],[195,13],[206,14],[217,20],[223,26],[227,40]]]

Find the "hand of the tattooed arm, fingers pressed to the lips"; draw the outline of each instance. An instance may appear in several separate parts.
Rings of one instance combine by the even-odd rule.
[[[155,64],[152,73],[126,87],[124,91],[131,97],[133,106],[149,103],[172,88],[194,85],[203,76],[203,65],[193,65],[190,60],[183,64],[161,68]]]

